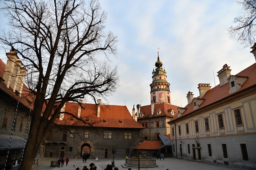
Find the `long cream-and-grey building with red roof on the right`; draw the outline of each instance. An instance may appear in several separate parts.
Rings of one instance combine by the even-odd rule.
[[[256,43],[252,47],[256,59]],[[198,84],[188,105],[168,122],[175,157],[240,168],[256,168],[256,63],[236,75],[225,64],[220,84]]]

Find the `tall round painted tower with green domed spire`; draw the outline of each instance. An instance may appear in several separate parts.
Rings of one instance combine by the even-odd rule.
[[[160,61],[159,52],[156,61],[156,71],[153,68],[152,83],[150,84],[150,97],[154,103],[171,103],[170,83],[166,80],[166,71],[163,70],[163,63]]]

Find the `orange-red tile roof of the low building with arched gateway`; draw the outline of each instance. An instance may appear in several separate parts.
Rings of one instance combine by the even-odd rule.
[[[67,102],[65,104],[65,112],[71,113],[75,117],[78,116],[78,103]],[[98,105],[82,103],[81,120],[64,114],[64,120],[56,120],[56,124],[68,124],[84,126],[91,123],[96,127],[113,127],[113,128],[139,128],[142,129],[138,122],[133,120],[126,106],[104,105],[100,104],[100,117],[97,117]],[[73,120],[70,120],[73,119]],[[86,125],[85,125],[86,126]],[[89,124],[87,124],[89,126]]]

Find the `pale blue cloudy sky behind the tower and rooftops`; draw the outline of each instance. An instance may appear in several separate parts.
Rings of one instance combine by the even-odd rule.
[[[250,48],[229,38],[227,28],[242,12],[234,0],[100,0],[100,4],[108,13],[106,31],[118,37],[118,55],[110,64],[118,66],[120,78],[116,92],[103,103],[126,105],[129,112],[133,105],[149,105],[157,50],[170,83],[171,104],[181,107],[188,104],[188,91],[199,96],[199,83],[212,88],[220,84],[217,72],[224,64],[235,75],[255,63]],[[4,19],[1,12],[0,28]]]

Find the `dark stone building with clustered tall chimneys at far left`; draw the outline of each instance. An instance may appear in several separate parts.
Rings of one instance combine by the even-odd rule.
[[[6,167],[19,166],[33,109],[30,91],[23,84],[26,68],[15,51],[6,55],[6,64],[0,59],[0,169],[5,166],[8,150]]]

